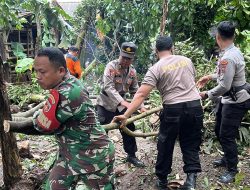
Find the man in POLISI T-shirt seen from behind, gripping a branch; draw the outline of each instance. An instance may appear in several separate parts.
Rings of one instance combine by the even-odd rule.
[[[201,171],[199,146],[203,126],[203,110],[200,95],[195,86],[195,69],[190,59],[172,55],[171,37],[161,36],[156,41],[159,61],[149,68],[141,87],[136,92],[124,115],[116,116],[114,122],[123,126],[150,91],[156,87],[161,94],[164,110],[160,116],[157,144],[157,187],[167,189],[167,176],[171,173],[173,150],[177,136],[183,154],[183,170],[186,181],[179,189],[195,188],[197,172]]]

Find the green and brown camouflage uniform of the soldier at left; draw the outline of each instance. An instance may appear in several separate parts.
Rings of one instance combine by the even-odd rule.
[[[51,132],[58,141],[59,154],[46,189],[70,189],[79,180],[85,189],[113,189],[114,146],[96,121],[87,91],[69,74],[55,89],[60,95],[56,118],[61,125]],[[35,128],[44,132],[37,122]]]

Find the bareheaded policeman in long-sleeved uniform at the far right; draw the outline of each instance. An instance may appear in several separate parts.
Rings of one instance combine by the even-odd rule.
[[[221,53],[217,73],[202,77],[198,87],[202,88],[209,80],[216,80],[217,86],[202,92],[203,99],[216,100],[221,97],[216,109],[215,133],[224,151],[224,156],[214,161],[215,166],[226,167],[227,171],[219,178],[221,183],[234,181],[238,173],[238,151],[236,137],[245,113],[250,108],[250,87],[246,83],[245,61],[240,50],[234,46],[235,26],[223,21],[217,27],[216,41]]]

